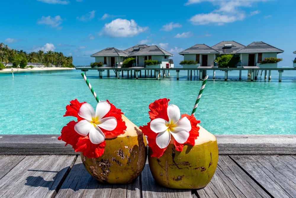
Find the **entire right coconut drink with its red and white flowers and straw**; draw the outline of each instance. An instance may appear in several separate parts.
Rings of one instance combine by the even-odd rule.
[[[149,105],[151,121],[140,129],[148,140],[148,162],[153,178],[174,189],[205,187],[218,164],[218,145],[213,134],[202,128],[194,117],[205,86],[203,81],[192,115],[159,99]],[[180,119],[181,116],[181,119]]]

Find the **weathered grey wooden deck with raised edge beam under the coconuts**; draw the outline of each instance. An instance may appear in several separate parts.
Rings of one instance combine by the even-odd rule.
[[[296,135],[216,135],[218,167],[198,190],[157,185],[148,164],[133,183],[99,183],[57,136],[0,135],[0,197],[296,197]]]

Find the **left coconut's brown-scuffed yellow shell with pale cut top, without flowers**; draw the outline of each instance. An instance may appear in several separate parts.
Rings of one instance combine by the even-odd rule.
[[[106,139],[105,151],[99,158],[88,158],[80,153],[86,170],[96,180],[110,184],[131,183],[145,167],[147,142],[141,130],[122,115],[126,123],[124,134]]]

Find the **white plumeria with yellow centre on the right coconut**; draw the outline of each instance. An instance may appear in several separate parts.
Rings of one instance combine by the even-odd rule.
[[[179,120],[179,107],[170,104],[168,105],[167,113],[169,121],[163,118],[156,118],[150,123],[150,129],[157,133],[156,144],[159,148],[166,148],[168,146],[171,134],[178,143],[185,143],[189,137],[189,131],[191,131],[191,123],[188,118],[183,117]]]

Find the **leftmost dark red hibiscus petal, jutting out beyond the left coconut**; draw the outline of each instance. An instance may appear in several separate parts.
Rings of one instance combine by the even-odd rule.
[[[76,144],[79,140],[79,138],[83,137],[82,135],[79,135],[75,130],[74,126],[77,122],[75,121],[70,121],[67,123],[67,126],[64,126],[62,128],[61,136],[58,137],[58,140],[63,140],[67,144],[72,145],[74,150],[76,149]],[[66,146],[65,145],[65,146]]]

